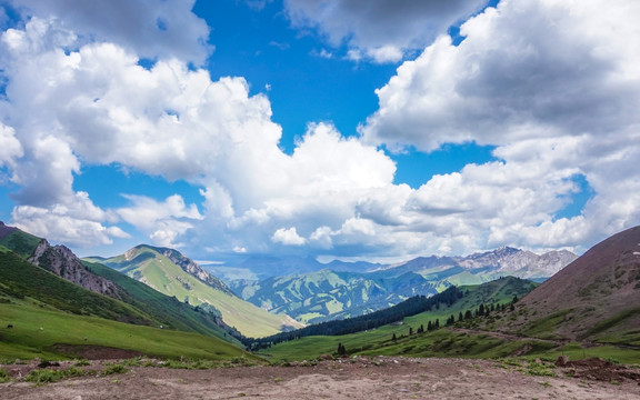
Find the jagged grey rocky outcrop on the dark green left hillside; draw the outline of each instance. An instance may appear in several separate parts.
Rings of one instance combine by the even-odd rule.
[[[121,300],[116,283],[93,274],[82,264],[82,261],[64,246],[51,246],[46,239],[42,239],[29,258],[29,262],[92,292]]]

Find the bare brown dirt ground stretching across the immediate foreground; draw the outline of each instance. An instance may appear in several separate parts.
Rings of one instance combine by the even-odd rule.
[[[577,367],[573,367],[577,368]],[[0,384],[0,399],[640,399],[640,371],[597,381],[529,376],[487,360],[373,358],[310,367],[132,368],[37,387]],[[610,379],[611,377],[608,377]]]

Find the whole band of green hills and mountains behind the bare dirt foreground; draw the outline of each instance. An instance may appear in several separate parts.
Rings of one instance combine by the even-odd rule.
[[[451,277],[482,279],[513,271],[537,276],[540,272],[536,272],[532,260],[549,270],[562,263],[563,257],[570,254],[536,256],[502,248],[468,257],[430,257],[378,266],[369,272],[324,269],[299,274],[297,279],[306,280],[296,293],[306,296],[317,290],[317,299],[322,298],[322,291],[340,299],[337,293],[341,290],[344,296],[368,290],[366,297],[373,303],[371,299],[382,289],[394,293],[409,288],[428,290],[421,286],[424,281],[442,287],[436,288],[437,296],[413,296],[359,318],[251,339],[230,327],[229,321],[234,314],[248,312],[247,320],[257,326],[270,323],[261,319],[267,311],[233,296],[232,288],[177,250],[138,246],[114,258],[79,260],[66,247],[51,246],[0,223],[0,321],[8,323],[7,328],[0,327],[0,351],[3,357],[54,358],[83,357],[82,349],[114,348],[131,356],[224,359],[253,357],[233,344],[277,344],[269,348],[274,357],[308,359],[331,352],[339,343],[342,351],[347,351],[347,344],[348,353],[369,356],[577,354],[578,349],[584,357],[587,347],[589,352],[637,360],[640,227],[594,246],[540,286],[512,277],[470,286],[442,283]],[[287,279],[272,277],[264,281],[288,288],[294,281]],[[367,287],[367,282],[373,286]],[[356,309],[354,299],[351,296],[343,301],[351,301],[351,309]],[[259,312],[252,314],[254,310]],[[277,321],[286,318],[270,316]],[[296,326],[302,324],[290,324]],[[303,332],[312,336],[304,337]],[[596,350],[591,350],[593,346]]]

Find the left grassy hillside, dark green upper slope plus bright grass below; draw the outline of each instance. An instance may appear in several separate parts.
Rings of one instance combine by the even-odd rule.
[[[160,329],[161,323],[131,304],[70,283],[11,251],[0,251],[2,358],[56,359],[68,353],[61,346],[111,347],[166,358],[244,354],[218,338]]]

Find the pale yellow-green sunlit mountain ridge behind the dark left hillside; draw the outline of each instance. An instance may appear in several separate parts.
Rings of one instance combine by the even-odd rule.
[[[286,314],[269,313],[240,299],[177,250],[141,244],[117,257],[86,260],[118,270],[191,306],[213,308],[227,324],[244,336],[268,336],[302,326]]]

